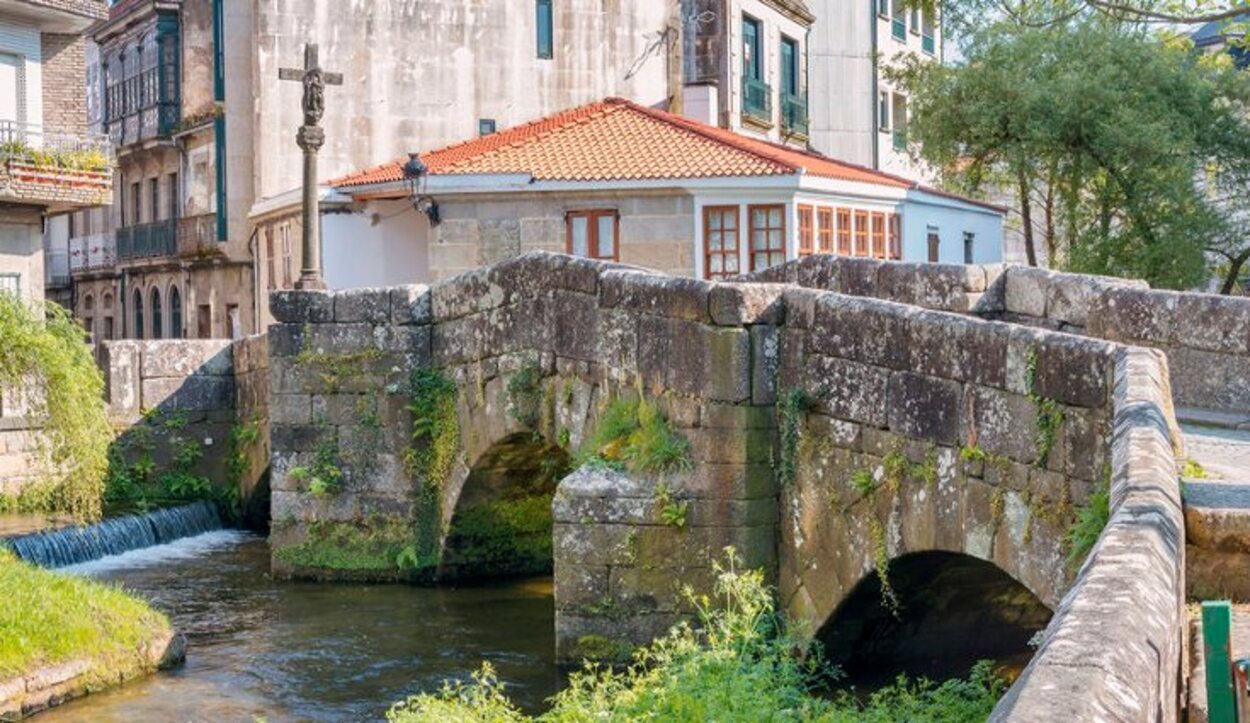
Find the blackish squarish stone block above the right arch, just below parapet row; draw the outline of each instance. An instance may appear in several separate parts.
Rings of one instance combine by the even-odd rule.
[[[890,375],[890,429],[914,439],[958,445],[961,433],[962,387],[956,382],[898,372]]]

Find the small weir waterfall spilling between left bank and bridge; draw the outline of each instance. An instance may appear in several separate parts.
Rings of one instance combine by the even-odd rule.
[[[28,563],[60,568],[108,555],[165,544],[179,538],[221,529],[211,502],[119,517],[86,525],[41,532],[9,539],[9,547]]]

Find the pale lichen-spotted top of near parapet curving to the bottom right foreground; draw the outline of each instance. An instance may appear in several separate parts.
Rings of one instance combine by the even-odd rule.
[[[1179,719],[1184,518],[1168,362],[1115,359],[1111,519],[991,720]]]

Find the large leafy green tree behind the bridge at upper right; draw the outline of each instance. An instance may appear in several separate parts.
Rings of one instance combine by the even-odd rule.
[[[1031,264],[1040,235],[1051,265],[1192,286],[1230,231],[1201,171],[1246,193],[1250,79],[1140,28],[996,24],[894,75],[909,143],[949,186],[1010,189]]]

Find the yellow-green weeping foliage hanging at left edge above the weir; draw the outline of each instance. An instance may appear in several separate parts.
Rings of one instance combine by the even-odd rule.
[[[112,429],[82,328],[56,304],[30,306],[0,294],[0,387],[34,392],[25,400],[44,425],[36,439],[48,493],[39,500],[49,510],[100,517]]]

